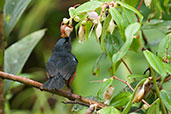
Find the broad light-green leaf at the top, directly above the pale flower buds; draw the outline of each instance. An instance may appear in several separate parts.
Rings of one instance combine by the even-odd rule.
[[[82,4],[82,5],[80,5],[79,7],[77,7],[75,9],[74,14],[78,15],[78,14],[83,13],[83,12],[94,11],[97,8],[101,7],[102,5],[103,5],[103,3],[99,2],[99,1],[86,2],[86,3]]]

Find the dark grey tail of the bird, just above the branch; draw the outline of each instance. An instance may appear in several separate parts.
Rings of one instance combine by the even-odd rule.
[[[43,84],[43,89],[60,89],[64,86],[65,80],[62,77],[51,77],[49,78],[44,84]]]

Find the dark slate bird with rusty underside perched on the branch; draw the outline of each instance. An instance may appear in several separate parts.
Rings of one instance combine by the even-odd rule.
[[[78,60],[71,53],[71,37],[61,38],[55,45],[46,64],[49,79],[43,84],[44,89],[61,89],[65,84],[71,89],[75,78]]]

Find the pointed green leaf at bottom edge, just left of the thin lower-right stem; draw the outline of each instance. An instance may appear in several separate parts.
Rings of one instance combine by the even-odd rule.
[[[160,105],[160,100],[158,98],[153,102],[151,107],[148,109],[147,114],[160,114],[159,105]]]

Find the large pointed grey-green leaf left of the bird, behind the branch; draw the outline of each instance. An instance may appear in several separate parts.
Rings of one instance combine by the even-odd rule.
[[[5,50],[5,72],[17,75],[22,70],[33,48],[45,34],[45,30],[43,29],[29,34]],[[8,83],[9,81],[6,82],[7,89],[11,83]]]

